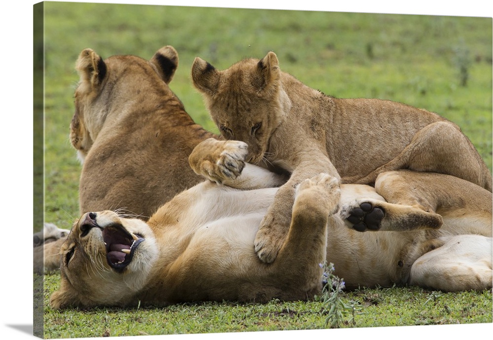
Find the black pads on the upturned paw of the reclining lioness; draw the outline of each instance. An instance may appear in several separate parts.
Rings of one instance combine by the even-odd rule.
[[[366,230],[379,230],[384,218],[384,210],[369,202],[362,202],[352,206],[346,211],[346,218],[352,224],[352,228],[358,232]]]

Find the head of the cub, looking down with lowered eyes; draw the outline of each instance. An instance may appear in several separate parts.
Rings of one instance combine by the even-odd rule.
[[[197,57],[192,79],[222,136],[248,144],[247,162],[261,161],[291,106],[276,54],[245,59],[223,71]]]

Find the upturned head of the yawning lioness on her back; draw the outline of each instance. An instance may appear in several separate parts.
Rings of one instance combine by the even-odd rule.
[[[113,211],[88,212],[61,248],[61,287],[53,308],[136,304],[158,256],[150,228]]]

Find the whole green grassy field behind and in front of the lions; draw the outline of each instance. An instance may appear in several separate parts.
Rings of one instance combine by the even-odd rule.
[[[45,221],[60,227],[70,228],[79,214],[80,166],[68,133],[78,80],[74,63],[87,47],[103,57],[149,59],[161,46],[173,45],[179,66],[171,88],[211,131],[215,127],[191,85],[193,59],[227,68],[272,50],[283,70],[325,94],[390,99],[440,113],[461,127],[492,170],[491,18],[64,2],[45,2],[44,15],[44,41],[35,44],[35,51],[44,47],[45,53],[44,213]],[[46,338],[326,327],[320,301],[58,312],[48,301],[59,274],[35,279],[44,282],[40,312]],[[382,288],[342,298],[357,312],[339,327],[492,322],[491,291]]]

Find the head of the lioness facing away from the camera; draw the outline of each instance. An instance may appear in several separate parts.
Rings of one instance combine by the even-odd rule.
[[[145,97],[168,84],[178,66],[172,46],[160,48],[149,60],[117,55],[103,60],[92,49],[80,52],[75,64],[80,80],[75,90],[75,113],[70,123],[70,142],[84,161],[100,134],[108,113],[125,114],[129,105],[145,105]],[[142,109],[142,108],[141,108]]]

